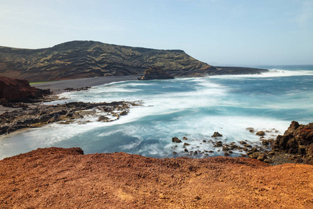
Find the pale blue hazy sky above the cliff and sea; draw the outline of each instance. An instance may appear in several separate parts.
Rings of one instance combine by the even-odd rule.
[[[313,0],[0,0],[0,46],[95,40],[211,65],[313,64]]]

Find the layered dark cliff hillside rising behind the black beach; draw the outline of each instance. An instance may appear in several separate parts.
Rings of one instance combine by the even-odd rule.
[[[142,75],[149,67],[162,68],[172,75],[204,75],[216,69],[182,50],[126,47],[95,41],[65,42],[45,49],[0,47],[0,75],[29,82]]]

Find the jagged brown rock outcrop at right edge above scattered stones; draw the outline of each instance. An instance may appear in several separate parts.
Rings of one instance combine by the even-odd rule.
[[[298,154],[305,162],[313,164],[313,123],[299,125],[292,121],[284,135],[278,135],[273,141],[272,147],[274,150]]]

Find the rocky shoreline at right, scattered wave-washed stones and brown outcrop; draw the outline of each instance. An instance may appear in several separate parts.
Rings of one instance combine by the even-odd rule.
[[[184,148],[180,154],[186,156],[209,157],[209,153],[223,153],[224,156],[240,155],[266,162],[271,165],[284,163],[306,163],[313,164],[313,123],[299,125],[292,121],[290,127],[283,135],[278,134],[278,130],[255,130],[247,127],[246,130],[251,134],[259,136],[259,141],[239,141],[227,144],[223,140],[223,134],[214,132],[211,139],[179,139],[172,137],[172,154],[177,155],[177,148]],[[193,142],[191,144],[191,141]],[[210,144],[211,148],[200,150],[199,144]]]

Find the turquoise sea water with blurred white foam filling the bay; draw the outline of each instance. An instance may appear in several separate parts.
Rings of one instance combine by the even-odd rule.
[[[142,100],[143,105],[110,123],[55,123],[1,137],[0,159],[50,146],[81,147],[85,153],[186,156],[182,144],[173,144],[172,137],[187,137],[188,150],[213,150],[208,156],[215,156],[223,152],[202,140],[212,139],[216,131],[223,134],[218,140],[225,143],[248,140],[258,144],[259,137],[246,127],[275,128],[282,134],[291,121],[312,123],[313,65],[266,68],[271,71],[262,75],[128,81],[64,93],[68,99],[62,102]],[[268,133],[266,139],[276,135]],[[235,151],[232,156],[239,154]]]

